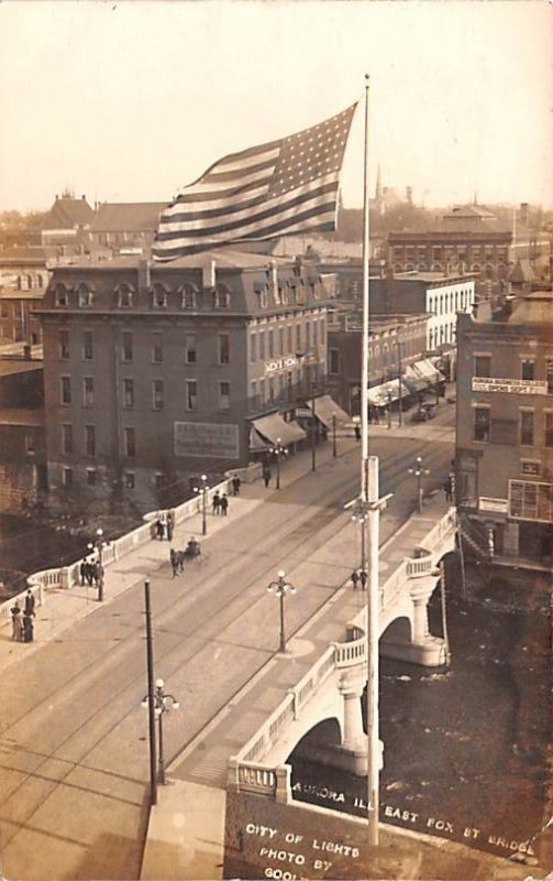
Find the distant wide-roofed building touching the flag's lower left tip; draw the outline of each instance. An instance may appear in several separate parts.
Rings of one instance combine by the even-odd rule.
[[[113,253],[148,257],[164,202],[103,203],[90,225],[90,249],[108,248]]]

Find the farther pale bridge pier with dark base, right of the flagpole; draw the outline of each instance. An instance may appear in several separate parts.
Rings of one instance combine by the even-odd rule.
[[[380,654],[395,661],[407,661],[425,667],[446,663],[445,642],[430,633],[428,605],[435,590],[440,575],[423,575],[410,579],[409,599],[411,633],[385,633],[380,640]]]

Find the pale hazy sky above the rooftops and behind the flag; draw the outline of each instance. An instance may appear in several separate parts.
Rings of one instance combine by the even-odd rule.
[[[363,101],[369,183],[553,204],[546,0],[0,1],[0,210],[165,202],[223,155]],[[364,109],[342,173],[363,202]]]

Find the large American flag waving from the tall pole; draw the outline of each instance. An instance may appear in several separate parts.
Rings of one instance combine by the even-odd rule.
[[[154,260],[334,229],[339,176],[356,104],[280,141],[215,162],[164,210]]]

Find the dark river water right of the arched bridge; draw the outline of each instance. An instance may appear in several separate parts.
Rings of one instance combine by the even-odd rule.
[[[473,567],[463,591],[450,566],[447,580],[450,670],[381,661],[379,816],[504,857],[535,851],[548,803],[546,576]],[[366,816],[365,779],[290,761],[295,798]]]

